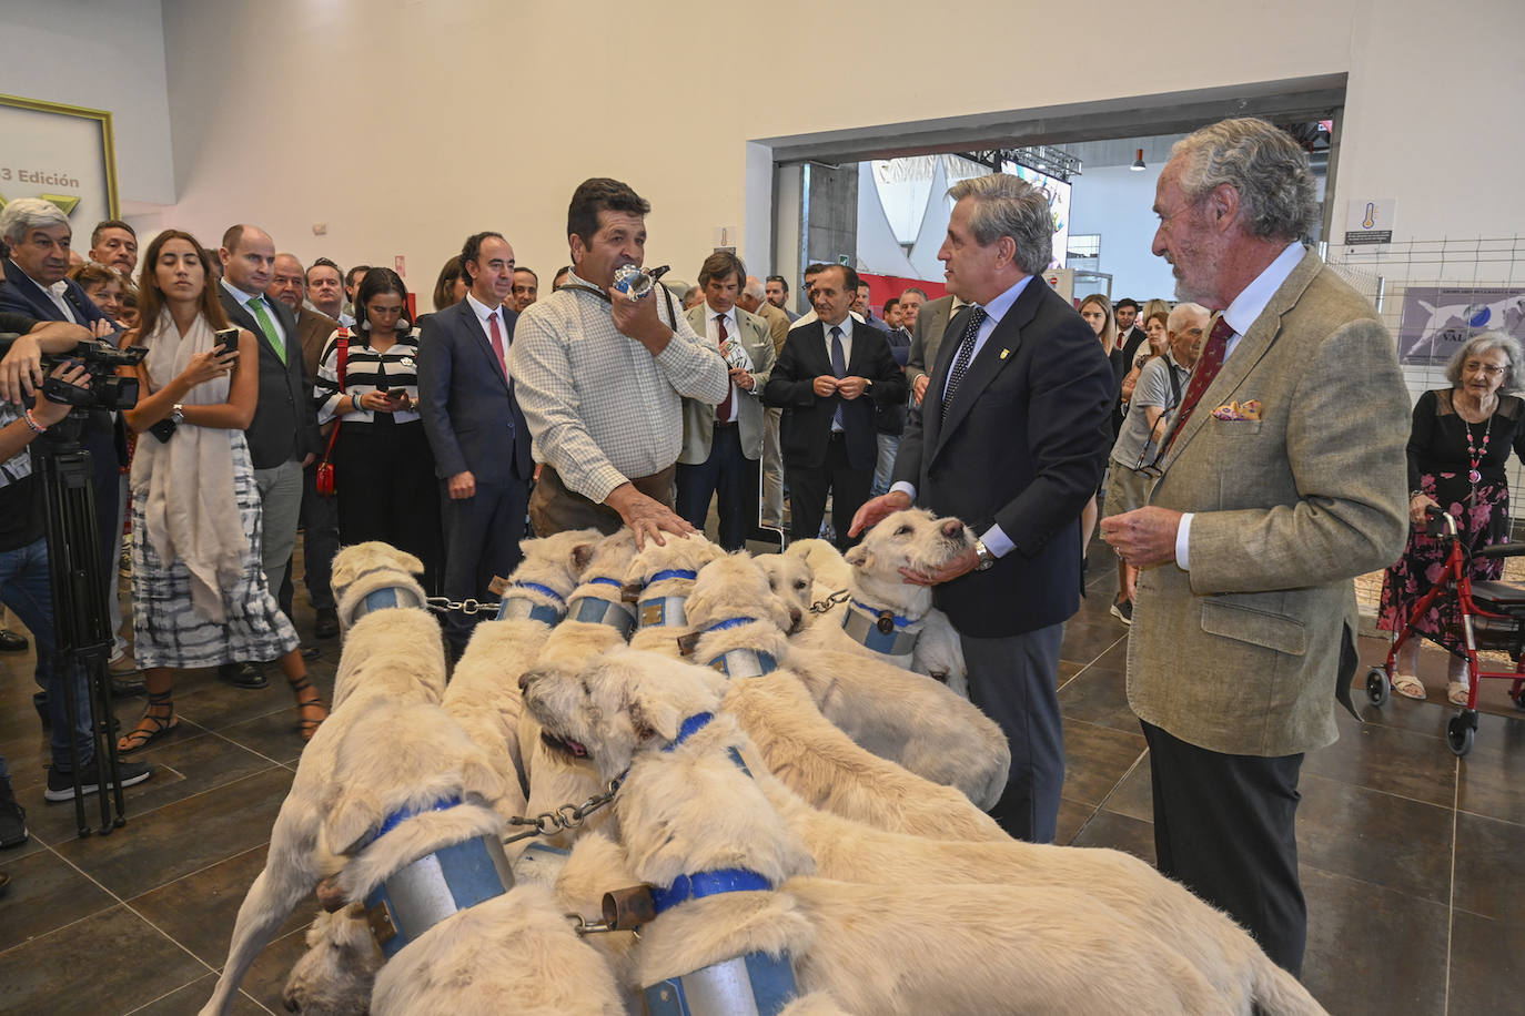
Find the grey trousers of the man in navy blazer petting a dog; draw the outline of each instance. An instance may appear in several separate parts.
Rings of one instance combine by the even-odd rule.
[[[1011,743],[1011,774],[991,818],[1017,839],[1054,842],[1064,788],[1064,727],[1058,714],[1058,647],[1064,625],[1005,638],[959,635],[968,698]]]

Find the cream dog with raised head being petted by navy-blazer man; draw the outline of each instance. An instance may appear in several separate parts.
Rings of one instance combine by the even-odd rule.
[[[923,509],[888,515],[846,553],[846,600],[795,641],[810,649],[872,653],[897,667],[935,675],[967,695],[958,632],[932,606],[932,588],[906,582],[900,570],[936,571],[973,545],[974,533],[955,518],[939,519]]]

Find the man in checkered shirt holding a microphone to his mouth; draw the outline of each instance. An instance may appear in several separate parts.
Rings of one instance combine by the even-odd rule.
[[[628,526],[644,545],[692,532],[673,510],[683,398],[718,405],[730,375],[662,286],[642,300],[613,289],[615,271],[645,259],[650,210],[618,180],[586,180],[567,209],[573,271],[515,326],[509,373],[544,463],[529,500],[538,536]]]

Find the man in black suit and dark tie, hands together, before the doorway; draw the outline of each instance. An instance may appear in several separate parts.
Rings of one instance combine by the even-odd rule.
[[[816,277],[810,299],[817,320],[788,334],[762,391],[769,405],[784,410],[793,538],[820,535],[830,494],[836,542],[843,550],[856,542],[848,522],[874,483],[874,411],[906,401],[906,376],[884,334],[856,324],[848,314],[856,297],[852,268],[830,265]]]

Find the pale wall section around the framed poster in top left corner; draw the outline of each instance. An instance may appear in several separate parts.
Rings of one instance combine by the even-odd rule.
[[[124,213],[175,200],[159,0],[0,0],[0,93],[111,113]]]

